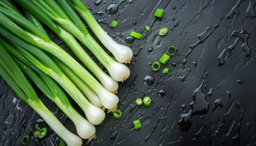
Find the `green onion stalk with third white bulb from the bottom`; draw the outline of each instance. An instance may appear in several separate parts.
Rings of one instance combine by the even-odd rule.
[[[1,14],[1,13],[0,13]],[[1,15],[0,15],[1,16]],[[7,21],[5,21],[7,22]],[[65,89],[66,92],[74,99],[74,101],[83,109],[87,119],[94,125],[100,124],[104,118],[105,113],[100,108],[92,105],[82,92],[77,89],[71,80],[60,70],[60,68],[48,57],[42,50],[32,44],[22,40],[8,29],[0,25],[0,33],[9,40],[13,41],[15,47],[19,49],[26,58],[32,62],[37,68],[41,69],[45,74],[50,75],[54,80]],[[18,46],[20,45],[20,46]],[[22,46],[22,47],[21,47]],[[27,51],[29,50],[29,51]],[[33,55],[32,55],[33,54]]]

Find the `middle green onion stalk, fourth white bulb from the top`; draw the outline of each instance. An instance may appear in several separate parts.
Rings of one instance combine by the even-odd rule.
[[[9,16],[9,15],[7,15],[7,16]],[[40,30],[40,29],[38,29],[37,26],[32,24],[27,19],[23,19],[22,17],[19,17],[22,21],[20,21],[20,19],[14,19],[14,16],[10,17],[13,21],[16,21],[17,24],[20,24],[21,26],[23,26],[27,30],[32,31],[32,32],[29,32],[27,30],[21,29],[21,27],[19,27],[16,23],[11,21],[9,18],[7,18],[2,13],[0,13],[0,17],[1,17],[1,19],[4,20],[4,21],[0,22],[2,24],[2,26],[0,26],[1,27],[0,33],[2,33],[2,35],[6,36],[7,33],[8,33],[9,36],[7,36],[7,37],[12,36],[12,38],[10,38],[10,40],[15,41],[15,43],[18,42],[18,40],[16,38],[17,38],[17,36],[19,36],[20,39],[21,38],[23,39],[23,41],[27,41],[30,44],[34,44],[35,46],[37,46],[40,49],[48,52],[49,54],[54,55],[59,60],[61,60],[64,64],[66,64],[66,66],[68,66],[68,68],[70,68],[74,73],[76,73],[77,76],[79,76],[85,83],[87,83],[87,85],[90,86],[91,89],[93,89],[93,91],[96,92],[96,94],[98,94],[99,98],[101,99],[102,105],[104,105],[105,108],[109,108],[109,109],[116,108],[117,103],[119,101],[118,97],[115,96],[115,94],[107,91],[85,68],[83,68],[76,60],[74,60],[73,57],[71,57],[68,53],[66,53],[65,50],[60,48],[57,44],[52,42],[49,39],[48,35],[45,36],[45,33],[43,33],[43,31],[37,32],[36,30]],[[34,27],[34,28],[33,29],[32,28],[27,28],[28,26],[29,27]],[[15,35],[13,35],[13,33],[10,33],[10,31],[15,33]],[[21,43],[21,42],[19,41],[19,43]],[[19,44],[19,43],[17,43],[17,44]],[[19,45],[22,46],[21,44],[19,44]],[[26,48],[27,46],[28,45],[25,44],[22,47]],[[57,68],[57,70],[60,70],[59,67]],[[63,72],[62,72],[62,74],[63,74]],[[54,75],[52,75],[52,76],[54,76]],[[58,77],[52,77],[52,78],[54,78],[56,81],[59,79]],[[65,78],[62,78],[61,82],[63,82],[64,79]],[[65,79],[65,82],[70,82],[70,80]],[[61,83],[59,83],[59,84],[62,85]],[[63,83],[62,86],[67,86],[67,85],[65,83]],[[70,90],[69,88],[66,88],[66,89]],[[71,92],[70,92],[70,94],[72,94],[72,96],[75,95],[75,94],[73,95],[73,93],[71,93]],[[80,91],[79,91],[79,94],[80,94]],[[76,96],[79,96],[79,95],[76,94]],[[84,96],[82,96],[82,98],[84,98]],[[81,103],[81,105],[83,105],[83,104]],[[90,119],[88,119],[88,120],[91,123],[93,123],[94,125],[97,124],[97,123],[99,124],[99,123],[102,122],[102,120],[98,121],[98,122],[92,122]]]

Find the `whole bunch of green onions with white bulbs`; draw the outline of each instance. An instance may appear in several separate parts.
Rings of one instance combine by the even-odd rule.
[[[9,0],[0,1],[0,75],[66,144],[82,145],[82,140],[66,130],[41,103],[24,74],[74,122],[80,137],[90,139],[96,131],[93,125],[105,118],[102,109],[117,107],[119,99],[113,92],[118,89],[117,82],[123,82],[130,75],[122,63],[131,60],[132,50],[113,41],[80,0],[15,1],[23,12]],[[75,10],[117,61],[91,37]],[[55,32],[101,83],[52,42],[41,23]],[[93,52],[111,77],[94,63],[76,38]],[[88,120],[71,106],[60,86],[82,108]]]

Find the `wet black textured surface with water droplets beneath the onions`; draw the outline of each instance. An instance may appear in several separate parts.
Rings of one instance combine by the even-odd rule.
[[[127,64],[130,77],[119,83],[117,94],[123,116],[115,119],[106,114],[96,126],[97,138],[88,145],[256,145],[255,0],[94,0],[85,4],[103,29],[134,53]],[[118,6],[107,9],[111,5]],[[156,9],[165,9],[163,18],[155,19]],[[115,29],[110,26],[114,19],[119,22]],[[145,26],[151,27],[150,32],[144,31]],[[159,36],[163,27],[172,31]],[[126,43],[131,31],[141,33],[141,40],[129,38]],[[74,56],[56,35],[48,33]],[[176,54],[152,71],[151,64],[169,46],[176,47]],[[167,74],[162,74],[164,68],[169,68]],[[29,145],[59,145],[59,136],[51,128],[44,139],[35,139],[33,132],[46,123],[2,78],[0,87],[0,145],[21,145],[26,134]],[[35,90],[60,122],[76,133],[72,121]],[[145,96],[151,98],[151,105],[138,106],[135,100]],[[73,100],[71,104],[85,116]],[[137,119],[138,130],[133,126]]]

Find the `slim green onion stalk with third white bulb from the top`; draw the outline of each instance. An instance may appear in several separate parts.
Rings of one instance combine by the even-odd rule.
[[[12,14],[12,13],[16,13],[17,11],[15,9],[12,9],[11,7],[8,7],[8,5],[5,5],[4,2],[0,1],[0,5],[2,7],[4,7],[5,9],[0,9],[0,11],[2,13],[4,13],[5,15],[9,16],[9,18],[16,18],[13,19],[13,21],[16,20],[16,22],[20,23],[21,26],[24,26],[24,24],[22,24],[23,21],[18,21],[20,20],[21,16],[17,16]],[[6,10],[8,9],[8,10]],[[12,13],[11,13],[12,12]],[[42,32],[45,32],[44,28],[41,26],[40,21],[38,21],[37,19],[35,19],[35,17],[33,15],[31,15],[29,12],[26,12],[27,18],[29,18],[29,20],[35,25],[38,26],[38,29],[40,29]],[[39,11],[40,12],[40,9]],[[42,12],[43,13],[43,12]],[[40,13],[40,14],[42,14]],[[46,18],[44,18],[46,17]],[[57,35],[60,36],[60,38],[68,45],[68,47],[73,50],[74,54],[79,58],[79,60],[82,61],[82,63],[85,64],[85,66],[87,66],[88,69],[90,69],[91,72],[93,72],[93,74],[99,79],[99,81],[102,83],[102,85],[104,86],[105,89],[107,89],[110,92],[116,92],[118,89],[118,83],[113,80],[112,77],[110,77],[109,75],[105,74],[104,71],[102,71],[101,68],[99,68],[99,66],[94,63],[94,61],[90,58],[90,56],[85,52],[85,50],[80,46],[79,43],[77,43],[76,39],[74,38],[73,35],[71,35],[68,31],[66,31],[65,29],[63,29],[61,26],[57,26],[54,22],[51,21],[50,18],[48,18],[48,16],[44,15],[44,17],[42,16],[42,18],[44,18],[47,23],[52,26],[52,30],[54,30],[55,33],[57,33]],[[48,18],[48,19],[47,19]],[[32,27],[29,27],[27,29],[31,29]],[[30,30],[31,31],[31,30]],[[37,34],[40,33],[37,32]],[[44,35],[47,35],[47,33],[44,33]]]

